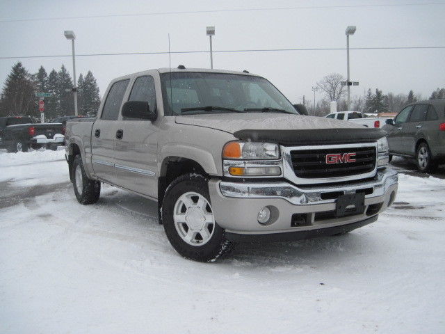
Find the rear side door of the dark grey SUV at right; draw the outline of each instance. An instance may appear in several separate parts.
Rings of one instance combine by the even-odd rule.
[[[423,137],[422,127],[426,119],[428,104],[416,104],[411,111],[410,118],[402,127],[403,152],[414,156],[416,154],[416,141]]]

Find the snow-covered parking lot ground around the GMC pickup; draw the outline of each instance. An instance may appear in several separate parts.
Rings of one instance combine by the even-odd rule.
[[[0,152],[0,333],[445,333],[445,180],[341,237],[191,262],[156,204],[76,202],[63,150]]]

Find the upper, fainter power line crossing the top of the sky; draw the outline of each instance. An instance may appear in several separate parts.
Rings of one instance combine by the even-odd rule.
[[[233,13],[233,12],[259,12],[265,10],[307,10],[307,9],[350,9],[350,8],[376,8],[376,7],[403,7],[403,6],[437,6],[445,5],[445,2],[428,3],[383,3],[373,5],[344,5],[344,6],[298,6],[298,7],[274,7],[274,8],[238,8],[238,9],[217,9],[217,10],[184,10],[176,12],[155,12],[155,13],[130,13],[130,14],[109,14],[109,15],[85,15],[66,17],[36,17],[24,19],[0,19],[0,22],[26,22],[26,21],[53,21],[58,19],[98,19],[105,17],[137,17],[153,15],[179,15],[179,14],[208,14],[208,13]]]

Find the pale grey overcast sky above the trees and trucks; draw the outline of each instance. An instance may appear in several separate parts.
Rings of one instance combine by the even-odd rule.
[[[419,3],[419,6],[366,6]],[[442,3],[442,4],[428,4]],[[364,5],[364,6],[362,6]],[[323,6],[339,6],[321,8]],[[350,7],[341,7],[350,6]],[[122,15],[180,11],[283,8],[218,13],[158,14],[130,17],[12,19]],[[300,8],[289,8],[300,7]],[[302,8],[312,7],[312,8]],[[72,59],[20,58],[21,56],[70,55],[64,30],[76,33],[77,54],[168,51],[205,51],[205,29],[216,26],[213,49],[295,49],[346,47],[345,29],[357,26],[350,47],[445,47],[445,1],[5,1],[0,2],[0,81],[22,61],[31,72],[43,65],[49,73],[62,63],[72,73]],[[210,67],[209,54],[172,54],[172,66]],[[168,67],[168,54],[135,56],[78,56],[77,75],[91,70],[101,95],[108,82],[124,74]],[[313,101],[312,86],[326,74],[346,77],[345,50],[268,51],[213,54],[213,67],[249,70],[275,84],[293,102],[302,95]],[[378,49],[350,51],[351,79],[359,81],[353,95],[367,88],[384,93],[410,89],[429,97],[445,87],[445,49]],[[317,100],[321,95],[317,95]]]

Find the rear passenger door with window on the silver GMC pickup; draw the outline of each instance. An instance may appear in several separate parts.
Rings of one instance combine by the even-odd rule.
[[[118,116],[129,79],[116,81],[109,88],[100,117],[93,123],[91,133],[92,168],[101,180],[114,183],[114,150]]]

